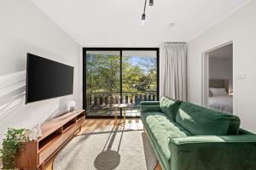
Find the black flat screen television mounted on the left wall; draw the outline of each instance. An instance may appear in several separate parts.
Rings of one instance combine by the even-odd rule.
[[[73,94],[73,66],[27,54],[26,104]]]

